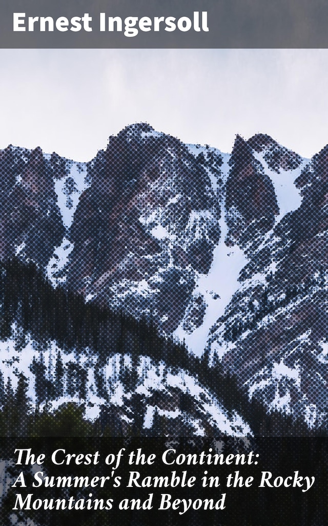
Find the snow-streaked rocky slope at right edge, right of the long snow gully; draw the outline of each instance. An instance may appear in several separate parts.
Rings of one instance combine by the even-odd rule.
[[[301,171],[300,207],[242,269],[209,340],[210,359],[220,355],[240,387],[313,427],[327,425],[327,154]]]

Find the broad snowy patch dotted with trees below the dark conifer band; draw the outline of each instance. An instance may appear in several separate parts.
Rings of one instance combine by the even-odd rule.
[[[136,366],[136,387],[135,389],[127,389],[123,385],[121,375],[124,371],[134,370],[135,365],[133,365],[129,354],[111,355],[105,364],[100,365],[98,356],[89,348],[81,352],[76,352],[74,349],[65,351],[60,349],[55,341],[49,341],[46,345],[40,346],[29,335],[25,335],[23,341],[22,335],[22,331],[15,325],[13,326],[13,336],[0,345],[3,381],[4,385],[7,385],[9,380],[12,388],[16,390],[18,379],[23,373],[28,382],[27,396],[32,406],[34,408],[38,406],[40,411],[45,408],[48,411],[55,411],[64,403],[76,402],[84,405],[85,418],[96,420],[102,406],[114,404],[123,409],[129,409],[129,400],[132,400],[134,395],[139,394],[145,397],[147,407],[150,408],[149,411],[146,411],[147,420],[144,427],[150,427],[151,415],[156,410],[158,414],[165,414],[167,418],[181,416],[186,422],[192,424],[195,434],[200,436],[204,434],[202,420],[209,422],[212,426],[217,427],[220,432],[227,433],[229,436],[242,437],[251,434],[248,424],[237,412],[234,411],[228,415],[223,405],[213,397],[213,393],[200,386],[195,378],[183,370],[172,371],[163,362],[155,363],[149,357],[140,356]],[[17,341],[20,341],[19,346]],[[56,370],[59,361],[62,364],[62,393],[57,398],[48,397],[47,400],[40,403],[36,392],[35,364],[41,366],[44,382],[55,382],[58,386],[59,379]],[[86,373],[85,398],[82,398],[81,389],[78,385],[70,379],[69,370],[72,366],[73,368],[76,366],[77,370],[83,370]],[[102,393],[99,393],[97,388],[96,377],[99,376],[102,378]],[[158,409],[152,400],[154,393],[162,392],[170,402],[172,389],[178,389],[190,396],[196,403],[201,416],[197,418],[194,414],[183,413],[178,407],[171,410]]]

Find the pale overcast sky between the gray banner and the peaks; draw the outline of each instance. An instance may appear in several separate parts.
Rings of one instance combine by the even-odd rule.
[[[0,148],[89,160],[148,122],[231,151],[262,132],[304,157],[328,143],[328,49],[1,49]]]

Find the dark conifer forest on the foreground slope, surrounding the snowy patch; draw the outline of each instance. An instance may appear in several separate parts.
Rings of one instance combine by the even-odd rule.
[[[76,349],[82,352],[91,348],[100,362],[115,353],[129,353],[133,363],[140,356],[150,357],[155,362],[163,361],[167,368],[184,370],[197,378],[200,385],[214,393],[228,411],[236,410],[249,423],[255,436],[323,436],[322,429],[310,430],[300,421],[279,412],[267,413],[254,398],[250,401],[246,393],[237,388],[235,379],[221,369],[220,363],[208,367],[206,359],[188,353],[182,343],[174,342],[158,334],[151,320],[136,320],[121,311],[99,307],[93,302],[84,302],[82,296],[63,287],[54,289],[34,264],[24,264],[17,259],[3,262],[0,267],[1,318],[0,336],[4,341],[12,336],[13,324],[23,329],[24,334],[43,343],[52,340],[63,350]],[[19,342],[17,342],[19,345]],[[60,363],[58,375],[60,375]],[[83,371],[82,371],[83,372]],[[122,381],[135,385],[133,372],[124,373]],[[83,373],[78,380],[83,392]],[[48,382],[49,383],[49,382]],[[40,401],[60,395],[60,379],[56,385],[48,385],[42,371],[36,375],[36,391]],[[140,397],[133,399],[134,423],[122,428],[115,417],[115,408],[103,407],[96,421],[83,418],[83,406],[66,403],[55,412],[45,409],[31,410],[26,396],[27,381],[20,374],[18,387],[0,378],[1,436],[163,436],[163,422],[154,422],[152,429],[143,429],[143,404]],[[188,410],[187,396],[181,397],[183,410]],[[188,429],[175,430],[186,436]],[[209,429],[213,436],[215,428]]]

